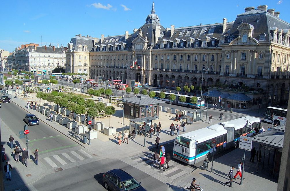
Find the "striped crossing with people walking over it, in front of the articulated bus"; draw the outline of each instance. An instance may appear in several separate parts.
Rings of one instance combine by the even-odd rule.
[[[156,172],[160,173],[161,175],[166,176],[169,179],[176,179],[184,174],[187,174],[188,172],[176,167],[176,163],[172,160],[169,161],[169,169],[166,169],[166,171],[163,171],[163,168],[161,167],[160,170],[159,168],[159,162],[158,165],[156,165],[156,161],[153,160],[153,154],[142,154],[139,156],[135,156],[133,158],[130,158],[131,160],[135,161],[136,163],[143,163],[144,166],[148,167],[148,170],[150,172]],[[166,167],[166,163],[164,163],[164,166]]]

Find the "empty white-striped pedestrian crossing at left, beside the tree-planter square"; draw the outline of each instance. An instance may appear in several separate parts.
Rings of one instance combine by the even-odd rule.
[[[83,149],[79,149],[77,151],[70,151],[66,153],[45,157],[40,160],[46,163],[48,166],[55,168],[61,165],[82,161],[88,158],[93,158],[93,156],[85,152]]]

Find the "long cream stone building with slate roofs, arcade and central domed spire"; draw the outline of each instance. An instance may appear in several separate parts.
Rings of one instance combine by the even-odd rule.
[[[153,3],[145,24],[133,33],[88,37],[89,76],[166,89],[202,84],[203,93],[218,92],[223,106],[235,109],[283,104],[290,88],[290,24],[279,15],[263,5],[245,8],[232,22],[164,28]]]

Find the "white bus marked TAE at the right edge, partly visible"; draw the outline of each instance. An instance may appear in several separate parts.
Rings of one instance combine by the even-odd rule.
[[[272,123],[271,116],[273,117],[273,124],[280,125],[281,123],[286,123],[287,109],[282,109],[278,107],[267,107],[264,121]]]

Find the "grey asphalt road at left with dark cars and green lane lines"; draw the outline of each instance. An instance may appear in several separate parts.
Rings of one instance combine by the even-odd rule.
[[[14,144],[19,144],[17,142],[17,140],[19,140],[19,131],[24,130],[24,125],[26,125],[26,123],[23,122],[23,119],[27,113],[28,112],[13,102],[2,104],[2,108],[0,109],[0,118],[1,121],[4,122],[14,133],[12,135],[15,139]],[[56,151],[58,149],[63,149],[64,147],[68,148],[79,146],[73,140],[62,135],[55,129],[52,129],[52,127],[46,125],[42,121],[39,121],[39,125],[27,127],[30,131],[28,134],[28,148],[30,151],[39,149],[39,152],[41,153],[44,151]],[[26,141],[25,138],[23,138],[23,141]],[[21,147],[26,147],[26,145],[21,145]]]

